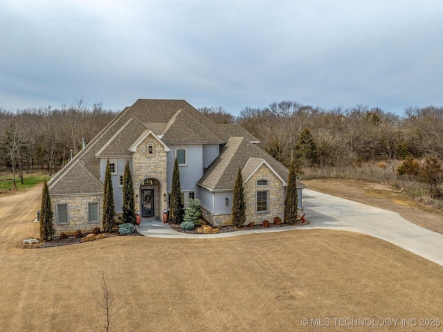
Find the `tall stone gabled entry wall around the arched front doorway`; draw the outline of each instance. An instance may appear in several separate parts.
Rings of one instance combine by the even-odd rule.
[[[149,154],[149,146],[152,145],[152,154]],[[136,211],[140,210],[140,185],[146,178],[155,178],[160,181],[159,191],[155,190],[156,211],[155,216],[161,217],[167,206],[166,192],[166,151],[165,147],[149,135],[137,146],[137,151],[132,154],[132,167],[134,176],[134,195],[139,196],[136,200]],[[159,205],[157,205],[157,203]]]

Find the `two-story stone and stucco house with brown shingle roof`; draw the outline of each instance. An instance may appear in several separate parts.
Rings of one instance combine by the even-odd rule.
[[[82,149],[48,183],[54,225],[60,232],[102,228],[107,160],[116,212],[123,205],[123,172],[129,160],[136,210],[161,217],[168,210],[177,158],[185,207],[200,199],[212,225],[230,224],[233,188],[242,169],[246,223],[283,217],[288,170],[237,124],[215,124],[185,100],[137,100]],[[298,183],[299,208],[302,183]]]

